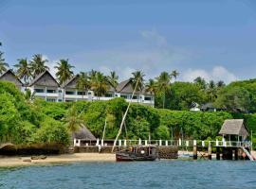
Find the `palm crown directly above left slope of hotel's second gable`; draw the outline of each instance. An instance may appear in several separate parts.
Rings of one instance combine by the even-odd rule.
[[[41,54],[36,54],[32,57],[32,60],[30,60],[32,77],[36,77],[39,74],[45,72],[46,70],[49,70],[48,66],[46,66],[47,61],[48,60],[43,60]]]

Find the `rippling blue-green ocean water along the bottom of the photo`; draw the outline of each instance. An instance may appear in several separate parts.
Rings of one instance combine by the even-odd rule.
[[[256,188],[256,162],[174,160],[1,168],[0,188]]]

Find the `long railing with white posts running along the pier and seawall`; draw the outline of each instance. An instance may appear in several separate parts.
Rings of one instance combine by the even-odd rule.
[[[237,141],[202,141],[202,140],[119,140],[117,146],[224,146],[224,147],[250,147],[251,142]],[[114,140],[83,140],[74,139],[74,146],[114,146]]]

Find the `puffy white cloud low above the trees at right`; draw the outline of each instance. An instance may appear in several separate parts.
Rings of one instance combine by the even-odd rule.
[[[182,74],[181,77],[182,77],[182,80],[184,81],[193,81],[193,79],[196,77],[203,77],[207,81],[223,80],[226,83],[237,80],[237,77],[235,77],[234,74],[229,72],[229,70],[227,70],[223,66],[215,66],[210,71],[206,71],[203,69],[188,69]]]

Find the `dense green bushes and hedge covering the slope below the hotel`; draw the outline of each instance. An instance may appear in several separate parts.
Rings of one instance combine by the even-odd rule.
[[[183,83],[175,85],[183,86]],[[104,138],[114,139],[127,106],[123,98],[73,103],[41,99],[31,102],[13,84],[0,81],[0,140],[15,144],[67,144],[70,134],[81,123],[101,138],[105,121]],[[171,111],[132,104],[120,137],[148,139],[150,134],[152,139],[171,139],[172,135],[177,139],[182,129],[187,139],[215,139],[224,120],[229,118],[245,118],[248,129],[256,132],[256,113]]]

